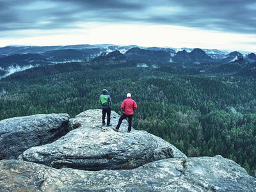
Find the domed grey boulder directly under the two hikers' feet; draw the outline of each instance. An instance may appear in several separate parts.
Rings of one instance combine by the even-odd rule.
[[[72,119],[81,127],[68,132],[57,141],[32,147],[20,160],[45,164],[54,168],[82,170],[129,169],[166,158],[186,158],[170,143],[146,131],[132,129],[127,133],[124,120],[119,132],[113,131],[119,115],[111,111],[113,126],[102,126],[101,109],[84,111]]]

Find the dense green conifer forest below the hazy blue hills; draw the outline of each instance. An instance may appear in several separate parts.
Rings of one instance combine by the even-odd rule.
[[[74,117],[99,109],[103,88],[121,115],[120,104],[130,92],[138,104],[134,129],[163,138],[189,157],[220,154],[256,177],[254,73],[137,63],[62,63],[17,72],[0,80],[0,120],[38,113]]]

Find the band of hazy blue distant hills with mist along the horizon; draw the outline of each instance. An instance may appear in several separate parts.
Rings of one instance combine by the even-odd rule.
[[[183,49],[183,50],[182,50]],[[0,77],[40,65],[65,62],[89,62],[90,67],[157,67],[171,64],[186,68],[191,73],[239,72],[246,63],[256,61],[255,53],[220,51],[218,49],[191,49],[170,47],[140,47],[138,45],[81,44],[57,46],[0,47]],[[238,62],[238,63],[237,63]],[[225,65],[228,64],[229,65]],[[212,65],[214,64],[214,65]],[[10,71],[12,68],[12,72]]]

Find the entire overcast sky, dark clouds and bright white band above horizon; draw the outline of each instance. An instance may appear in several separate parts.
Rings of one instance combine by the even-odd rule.
[[[256,1],[0,0],[0,47],[74,44],[256,52]]]

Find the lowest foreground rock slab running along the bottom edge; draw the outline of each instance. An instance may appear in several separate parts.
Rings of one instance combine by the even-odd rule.
[[[256,179],[221,156],[163,159],[97,172],[0,161],[1,191],[256,191]]]

